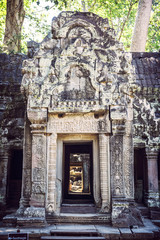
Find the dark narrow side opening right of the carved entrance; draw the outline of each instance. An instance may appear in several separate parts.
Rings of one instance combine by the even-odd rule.
[[[144,194],[147,187],[147,160],[145,148],[134,149],[134,185],[135,201],[144,203]]]

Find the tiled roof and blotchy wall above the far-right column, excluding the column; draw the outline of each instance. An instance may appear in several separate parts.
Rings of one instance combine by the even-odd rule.
[[[160,54],[132,53],[134,78],[138,86],[134,97],[135,147],[160,146]]]

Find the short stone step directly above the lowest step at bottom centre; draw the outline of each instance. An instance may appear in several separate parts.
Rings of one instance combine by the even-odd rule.
[[[98,232],[96,230],[83,230],[77,229],[73,231],[69,230],[51,230],[51,236],[98,236]]]

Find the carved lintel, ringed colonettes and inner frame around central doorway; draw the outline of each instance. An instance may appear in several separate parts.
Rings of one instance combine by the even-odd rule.
[[[103,122],[103,124],[101,124]],[[102,127],[103,126],[103,127]],[[102,127],[100,129],[100,127]],[[110,122],[108,114],[49,114],[47,122],[47,212],[59,214],[62,204],[63,143],[93,142],[93,198],[100,212],[110,212]]]

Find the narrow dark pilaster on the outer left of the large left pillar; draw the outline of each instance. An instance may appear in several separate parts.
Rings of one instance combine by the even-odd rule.
[[[29,207],[29,201],[31,197],[31,162],[32,162],[32,137],[30,122],[25,117],[24,125],[24,141],[23,141],[23,171],[22,171],[22,192],[20,199],[20,209],[23,210]]]

